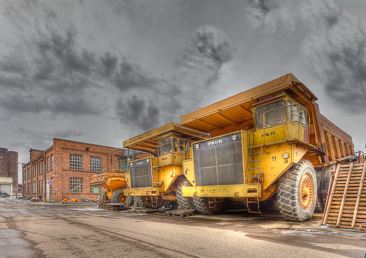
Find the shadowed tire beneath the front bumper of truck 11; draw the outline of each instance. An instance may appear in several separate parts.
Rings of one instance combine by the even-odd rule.
[[[212,197],[194,197],[194,207],[195,209],[202,214],[206,215],[217,215],[220,213],[223,213],[227,210],[227,201],[226,198],[216,198],[216,201],[219,203],[216,203],[216,206],[214,204],[211,204],[209,202],[215,201],[215,198]],[[211,207],[210,207],[211,206]]]

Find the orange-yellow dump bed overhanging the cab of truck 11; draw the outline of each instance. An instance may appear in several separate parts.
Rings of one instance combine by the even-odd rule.
[[[291,73],[182,115],[180,126],[209,133],[212,137],[241,129],[254,131],[253,104],[265,103],[280,92],[287,93],[309,111],[309,144],[324,152],[322,163],[354,153],[351,136],[320,114],[315,103],[318,98]]]

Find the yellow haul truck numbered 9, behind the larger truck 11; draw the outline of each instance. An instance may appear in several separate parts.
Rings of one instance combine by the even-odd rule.
[[[191,143],[208,137],[207,133],[169,123],[124,141],[124,148],[154,155],[129,162],[124,196],[135,196],[140,207],[176,209],[179,202],[183,209],[195,209],[193,198],[182,197],[182,186],[192,185],[183,176],[182,164],[191,158]]]

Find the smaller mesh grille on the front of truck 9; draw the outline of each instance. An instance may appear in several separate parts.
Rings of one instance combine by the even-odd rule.
[[[153,187],[151,165],[130,167],[131,188]]]

